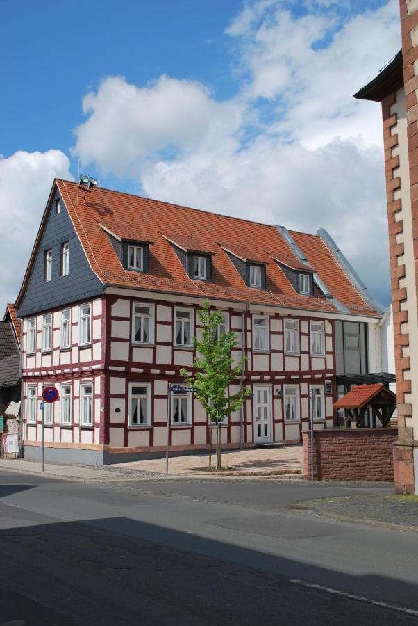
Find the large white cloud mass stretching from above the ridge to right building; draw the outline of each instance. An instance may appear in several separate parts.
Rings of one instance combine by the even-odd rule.
[[[74,153],[139,177],[145,193],[316,232],[325,227],[376,296],[388,294],[381,113],[352,95],[400,46],[396,0],[246,3],[226,29],[237,94],[201,83],[105,79],[83,101]]]

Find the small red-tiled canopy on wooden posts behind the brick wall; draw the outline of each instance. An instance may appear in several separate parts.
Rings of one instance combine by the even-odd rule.
[[[358,428],[369,408],[380,419],[382,425],[387,426],[396,408],[396,394],[387,389],[383,383],[358,385],[333,406],[337,409],[345,409]]]

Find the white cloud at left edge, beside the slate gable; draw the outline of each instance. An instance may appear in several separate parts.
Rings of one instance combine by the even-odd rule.
[[[15,152],[0,157],[0,316],[14,302],[54,177],[71,179],[60,150]],[[1,318],[0,318],[1,319]]]

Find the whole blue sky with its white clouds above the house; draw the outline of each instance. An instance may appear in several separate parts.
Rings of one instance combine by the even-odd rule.
[[[396,0],[3,2],[0,307],[53,177],[78,168],[102,186],[325,227],[387,303],[380,110],[352,94],[399,46]]]

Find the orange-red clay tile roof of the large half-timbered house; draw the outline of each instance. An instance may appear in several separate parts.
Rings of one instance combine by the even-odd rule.
[[[72,218],[78,237],[92,270],[103,284],[112,286],[156,289],[158,291],[231,299],[240,302],[260,303],[303,308],[323,312],[337,312],[329,300],[315,290],[315,296],[297,294],[281,267],[271,262],[269,254],[294,258],[294,252],[275,226],[259,224],[240,218],[181,207],[168,202],[149,200],[101,187],[90,191],[74,182],[57,179],[56,184]],[[149,273],[126,271],[110,243],[106,227],[118,225],[118,232],[146,233],[154,241],[150,249]],[[109,226],[109,230],[112,230]],[[193,238],[199,250],[215,250],[212,257],[212,281],[194,281],[185,273],[174,248],[164,233],[182,234]],[[358,291],[337,264],[319,236],[292,233],[298,246],[315,267],[319,277],[326,282],[340,302],[354,314],[378,316],[362,299]],[[244,258],[267,265],[267,289],[250,289],[237,272],[228,250]],[[232,249],[233,248],[233,249]]]

